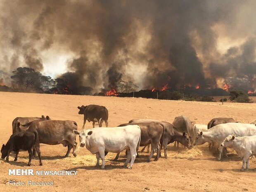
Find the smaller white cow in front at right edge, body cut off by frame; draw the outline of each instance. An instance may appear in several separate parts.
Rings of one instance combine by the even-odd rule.
[[[243,158],[241,171],[244,171],[245,162],[248,170],[249,157],[256,155],[256,135],[247,137],[236,137],[235,134],[228,135],[220,146],[235,149],[237,154]]]

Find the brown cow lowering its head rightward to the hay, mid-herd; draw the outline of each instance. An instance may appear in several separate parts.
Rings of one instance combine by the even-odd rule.
[[[164,147],[164,157],[166,159],[167,159],[167,153],[166,153],[167,145],[174,141],[178,141],[182,145],[191,149],[191,143],[190,143],[187,133],[185,133],[185,132],[181,133],[180,131],[177,130],[177,128],[175,128],[173,126],[173,124],[171,124],[169,122],[158,121],[158,120],[154,120],[154,119],[132,119],[129,121],[129,123],[150,123],[150,122],[162,123],[164,125],[164,139],[160,140],[160,143],[161,143],[161,148]],[[145,147],[147,147],[147,146],[145,146]],[[145,149],[145,147],[144,147],[144,149]],[[160,151],[160,156],[161,156],[161,151]]]

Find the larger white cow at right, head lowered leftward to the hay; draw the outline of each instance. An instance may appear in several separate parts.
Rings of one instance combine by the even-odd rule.
[[[209,142],[213,147],[219,147],[218,160],[220,160],[223,151],[223,147],[220,144],[225,140],[225,137],[233,133],[240,137],[256,135],[256,126],[244,123],[219,124],[204,132],[201,131],[198,133],[194,145],[202,145],[205,142]]]

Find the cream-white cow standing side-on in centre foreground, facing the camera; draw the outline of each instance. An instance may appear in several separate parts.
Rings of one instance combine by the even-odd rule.
[[[137,156],[136,148],[140,146],[140,127],[137,125],[128,125],[123,127],[114,128],[92,128],[88,130],[73,130],[75,134],[79,135],[81,147],[86,147],[92,154],[96,154],[97,164],[100,165],[100,158],[102,159],[101,168],[105,168],[105,151],[119,153],[123,150],[127,150],[128,156],[124,167],[127,166],[131,159],[130,166],[133,167],[133,163]]]

